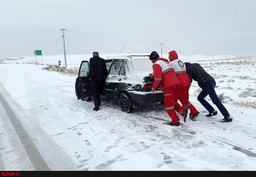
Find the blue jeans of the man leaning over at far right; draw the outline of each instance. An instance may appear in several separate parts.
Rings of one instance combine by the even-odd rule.
[[[205,107],[206,110],[208,110],[210,113],[214,111],[214,108],[204,99],[207,95],[210,96],[212,99],[212,102],[217,106],[217,108],[220,110],[224,118],[230,116],[228,113],[228,110],[224,107],[222,102],[220,102],[220,99],[218,98],[216,92],[216,81],[208,81],[205,85],[205,88],[201,91],[201,93],[197,96],[197,100]]]

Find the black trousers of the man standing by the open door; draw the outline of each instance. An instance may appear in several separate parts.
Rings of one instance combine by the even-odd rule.
[[[94,108],[99,109],[100,106],[100,94],[104,90],[104,78],[102,77],[91,77],[90,87],[92,91],[92,97],[94,100]]]

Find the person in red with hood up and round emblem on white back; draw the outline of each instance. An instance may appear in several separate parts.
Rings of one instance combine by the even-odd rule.
[[[172,50],[169,52],[169,57],[168,59],[170,60],[170,64],[172,65],[177,77],[179,78],[179,81],[181,84],[179,85],[179,94],[178,94],[178,99],[180,100],[181,106],[179,102],[175,102],[175,110],[179,112],[181,115],[184,114],[185,110],[187,108],[190,109],[190,118],[192,120],[196,120],[197,116],[199,115],[199,112],[189,102],[189,87],[191,85],[191,80],[189,75],[187,74],[187,69],[186,65],[179,59],[179,55],[175,50]]]

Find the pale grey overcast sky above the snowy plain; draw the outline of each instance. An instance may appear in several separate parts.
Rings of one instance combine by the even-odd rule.
[[[256,55],[255,0],[0,0],[0,57]]]

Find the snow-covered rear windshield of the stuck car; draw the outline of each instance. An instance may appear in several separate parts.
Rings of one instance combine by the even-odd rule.
[[[133,65],[134,73],[152,73],[153,63],[148,58],[141,59],[133,59],[131,61],[131,65]]]

